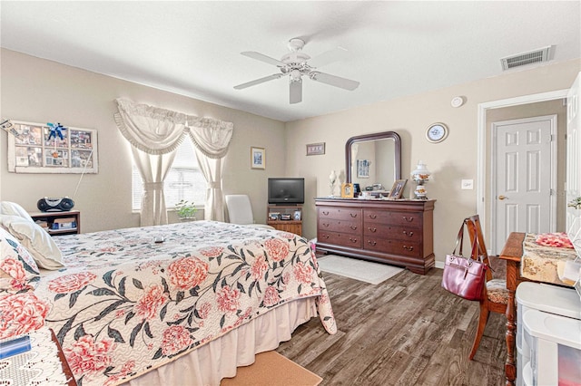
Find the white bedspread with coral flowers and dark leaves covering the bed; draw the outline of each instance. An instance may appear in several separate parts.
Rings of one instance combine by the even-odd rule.
[[[291,233],[196,221],[55,241],[66,268],[34,294],[80,385],[127,381],[300,297],[337,331],[309,242]]]

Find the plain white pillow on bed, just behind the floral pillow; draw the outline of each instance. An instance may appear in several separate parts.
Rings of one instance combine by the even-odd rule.
[[[3,215],[0,221],[25,246],[38,266],[52,270],[64,267],[61,250],[42,227],[17,216]]]

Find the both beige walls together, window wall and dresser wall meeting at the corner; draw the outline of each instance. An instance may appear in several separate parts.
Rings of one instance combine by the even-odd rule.
[[[60,121],[99,130],[99,174],[85,175],[74,198],[75,208],[83,212],[84,232],[139,224],[131,210],[129,145],[113,122],[113,101],[124,97],[232,121],[234,135],[224,165],[224,192],[251,195],[255,217],[261,221],[266,217],[266,179],[304,177],[303,235],[309,238],[316,236],[312,198],[329,194],[330,170],[344,172],[345,142],[354,135],[397,131],[402,140],[403,178],[408,178],[419,159],[433,173],[427,188],[428,197],[438,200],[434,236],[439,262],[450,252],[462,218],[477,211],[478,103],[567,89],[581,68],[579,60],[545,65],[285,124],[22,53],[2,50],[0,64],[3,117]],[[454,109],[450,100],[457,95],[467,102]],[[432,144],[425,132],[437,121],[446,123],[450,132],[447,140]],[[33,211],[38,198],[73,195],[79,175],[8,173],[6,135],[0,134],[0,199],[14,200]],[[326,142],[326,153],[307,157],[306,144],[317,142]],[[266,149],[266,170],[250,168],[251,146]],[[461,179],[474,179],[475,189],[461,190]],[[413,188],[409,182],[405,197],[410,197]]]

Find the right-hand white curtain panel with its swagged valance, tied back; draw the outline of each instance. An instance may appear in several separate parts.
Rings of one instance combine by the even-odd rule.
[[[196,157],[208,183],[204,219],[224,221],[224,199],[222,194],[222,159],[228,152],[232,138],[231,122],[188,117],[190,137],[196,148]]]

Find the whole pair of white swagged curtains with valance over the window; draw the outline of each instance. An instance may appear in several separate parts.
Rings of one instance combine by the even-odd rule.
[[[223,221],[222,159],[228,152],[233,124],[117,99],[115,122],[133,146],[143,179],[141,225],[167,224],[163,180],[186,133],[208,183],[205,219]]]

